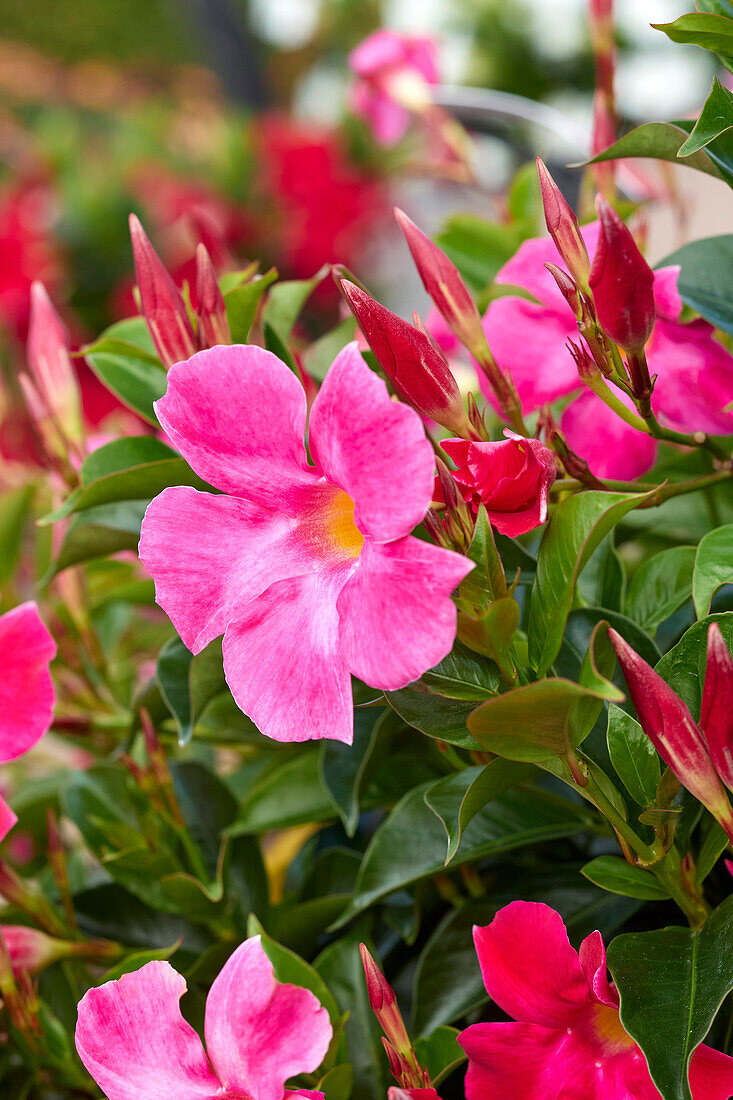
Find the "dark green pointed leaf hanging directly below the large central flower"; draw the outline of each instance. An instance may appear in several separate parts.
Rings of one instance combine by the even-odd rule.
[[[353,715],[353,744],[321,741],[318,754],[320,779],[333,809],[343,822],[347,836],[353,836],[361,812],[361,791],[369,771],[380,732],[390,711],[358,707]]]

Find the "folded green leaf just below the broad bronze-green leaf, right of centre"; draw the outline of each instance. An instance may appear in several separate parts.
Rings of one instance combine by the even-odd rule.
[[[446,776],[426,791],[426,805],[440,818],[448,837],[446,867],[458,851],[463,831],[479,811],[534,773],[530,765],[496,759],[485,768],[467,768]]]

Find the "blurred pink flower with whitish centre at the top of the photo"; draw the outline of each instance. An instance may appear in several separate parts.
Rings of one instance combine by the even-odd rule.
[[[382,145],[395,145],[411,116],[430,105],[429,85],[437,84],[437,47],[433,38],[396,31],[374,31],[349,54],[355,80],[351,106]]]

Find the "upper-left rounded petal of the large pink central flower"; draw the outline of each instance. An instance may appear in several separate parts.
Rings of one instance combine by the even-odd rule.
[[[155,411],[186,462],[226,493],[282,510],[316,479],[303,386],[262,348],[210,348],[176,363]]]

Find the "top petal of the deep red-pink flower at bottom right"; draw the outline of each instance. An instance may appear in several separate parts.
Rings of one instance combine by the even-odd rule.
[[[590,1004],[578,953],[549,905],[512,902],[488,927],[474,927],[473,941],[489,996],[507,1015],[565,1027]]]

